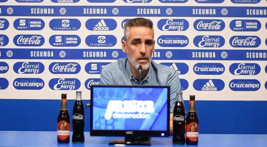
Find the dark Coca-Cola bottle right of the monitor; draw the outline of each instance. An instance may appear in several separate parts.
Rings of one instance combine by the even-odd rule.
[[[185,107],[183,93],[176,93],[176,102],[173,110],[173,144],[185,144]]]

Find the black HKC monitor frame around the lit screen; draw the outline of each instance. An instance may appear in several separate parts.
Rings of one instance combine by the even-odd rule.
[[[93,130],[93,89],[94,87],[151,87],[151,88],[167,88],[167,130]],[[90,105],[90,136],[150,136],[150,137],[168,137],[170,136],[170,86],[162,85],[91,85],[91,105]],[[131,134],[126,134],[127,131],[132,131]],[[162,133],[164,135],[162,136]]]

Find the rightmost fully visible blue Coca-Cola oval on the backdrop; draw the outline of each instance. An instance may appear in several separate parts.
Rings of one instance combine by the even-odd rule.
[[[233,47],[258,47],[261,39],[258,36],[233,36],[230,45]]]

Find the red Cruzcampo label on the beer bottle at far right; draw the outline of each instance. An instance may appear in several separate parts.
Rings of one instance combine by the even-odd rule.
[[[192,122],[186,125],[186,138],[191,141],[198,140],[198,123]]]

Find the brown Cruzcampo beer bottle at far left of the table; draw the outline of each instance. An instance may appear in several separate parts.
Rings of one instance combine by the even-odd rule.
[[[57,142],[69,143],[69,113],[67,108],[67,94],[61,94],[61,106],[57,116]]]

